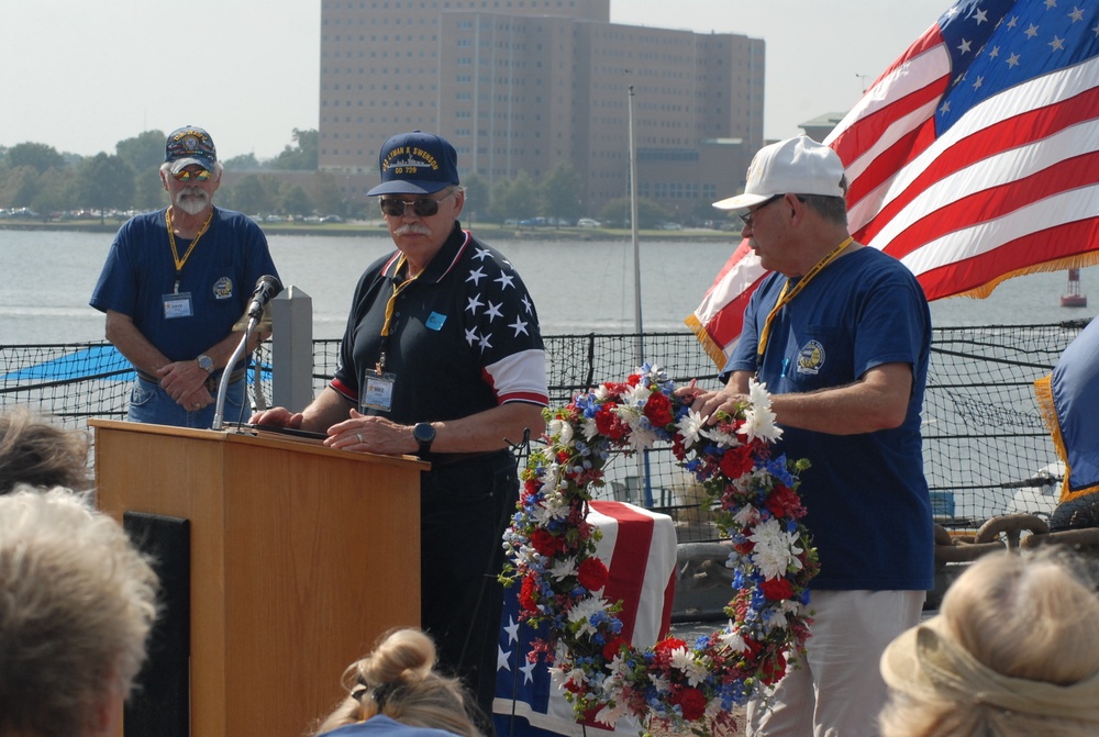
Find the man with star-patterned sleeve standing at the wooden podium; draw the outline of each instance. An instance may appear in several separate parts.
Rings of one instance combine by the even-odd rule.
[[[454,147],[420,131],[396,135],[379,170],[368,193],[379,198],[397,250],[359,279],[335,376],[301,413],[275,407],[252,422],[431,462],[420,487],[421,626],[441,665],[490,715],[502,608],[496,576],[519,489],[509,445],[544,426],[542,334],[519,273],[462,230]]]

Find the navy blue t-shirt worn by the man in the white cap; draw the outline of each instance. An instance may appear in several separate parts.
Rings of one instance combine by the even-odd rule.
[[[812,587],[931,589],[934,536],[920,435],[931,312],[923,290],[891,256],[875,248],[847,254],[775,316],[757,367],[758,335],[785,282],[771,273],[752,295],[726,371],[757,371],[773,394],[846,386],[882,364],[909,364],[913,379],[904,422],[893,429],[831,435],[782,427],[776,450],[812,464],[801,476],[803,522],[821,560]]]

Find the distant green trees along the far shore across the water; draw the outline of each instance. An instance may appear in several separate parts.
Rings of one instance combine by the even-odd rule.
[[[121,224],[137,212],[165,206],[167,198],[159,177],[164,141],[162,131],[146,131],[120,141],[114,154],[88,157],[58,153],[42,143],[0,146],[0,225],[9,223],[2,215],[20,212],[25,222],[43,221],[68,230],[110,230],[109,222]],[[340,223],[323,223],[320,227],[315,222],[299,221],[336,216],[370,222],[378,217],[373,202],[345,197],[335,175],[318,170],[318,132],[295,129],[292,142],[271,159],[259,161],[253,154],[223,159],[225,174],[215,202],[252,215],[270,232],[284,232],[282,225],[287,225],[293,233],[341,235],[344,228],[332,227]],[[554,226],[526,226],[526,223],[576,223],[597,217],[604,226],[615,227],[570,228],[570,236],[604,239],[622,237],[624,233],[629,237],[629,228],[624,227],[630,216],[629,198],[609,202],[598,213],[587,212],[576,198],[580,190],[577,174],[567,164],[539,179],[519,171],[489,187],[484,178],[469,174],[463,175],[462,183],[466,188],[464,214],[479,227],[485,223],[500,224],[514,237],[553,238]],[[268,220],[274,217],[291,217],[293,222]],[[656,231],[662,237],[678,238],[684,234],[678,228],[704,224],[707,228],[686,233],[698,237],[720,230],[722,237],[728,238],[729,231],[736,225],[725,213],[717,211],[690,214],[693,223],[673,222],[671,217],[656,202],[639,198],[637,223],[642,230]]]

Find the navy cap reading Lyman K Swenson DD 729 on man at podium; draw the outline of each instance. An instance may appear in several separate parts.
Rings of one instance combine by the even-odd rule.
[[[458,183],[458,154],[434,133],[392,136],[378,154],[381,183],[367,194],[433,194]]]

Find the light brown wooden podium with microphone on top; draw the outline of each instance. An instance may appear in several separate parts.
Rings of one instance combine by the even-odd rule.
[[[190,521],[190,734],[300,735],[420,623],[415,458],[90,420],[97,504]]]

